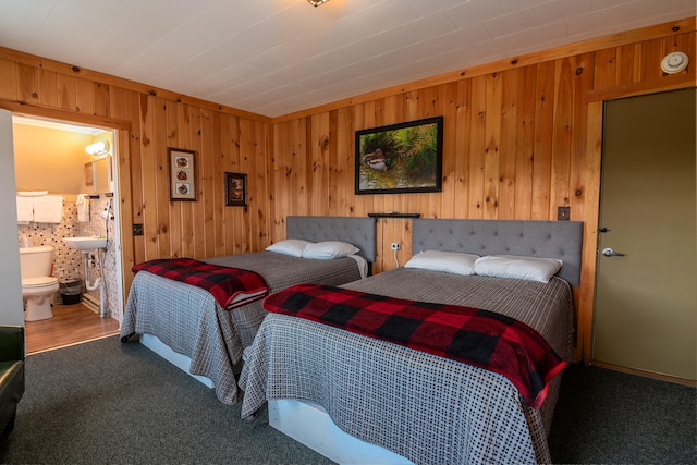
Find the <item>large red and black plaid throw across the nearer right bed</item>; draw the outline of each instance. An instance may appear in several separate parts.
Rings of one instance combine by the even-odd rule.
[[[538,332],[493,311],[319,284],[270,295],[264,307],[503,375],[536,409],[566,367]]]

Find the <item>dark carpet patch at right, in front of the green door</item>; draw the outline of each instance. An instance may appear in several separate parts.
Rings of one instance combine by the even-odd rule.
[[[594,366],[563,376],[555,463],[697,464],[697,389]]]

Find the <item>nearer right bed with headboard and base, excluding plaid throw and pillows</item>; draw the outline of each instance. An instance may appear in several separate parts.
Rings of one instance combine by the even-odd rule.
[[[409,267],[341,287],[505,315],[571,358],[582,223],[416,219],[413,238],[415,257],[447,250],[562,265],[548,282]],[[541,406],[531,406],[499,372],[280,313],[269,313],[244,358],[242,417],[268,401],[271,426],[337,462],[551,461],[547,437],[561,376]]]

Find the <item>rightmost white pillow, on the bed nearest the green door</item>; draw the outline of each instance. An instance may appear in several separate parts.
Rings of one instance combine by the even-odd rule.
[[[517,255],[487,255],[477,258],[475,272],[485,277],[513,278],[549,282],[562,267],[555,258],[522,257]]]

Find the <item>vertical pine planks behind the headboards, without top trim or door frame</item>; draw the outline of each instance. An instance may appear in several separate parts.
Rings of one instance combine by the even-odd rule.
[[[592,82],[592,54],[583,54],[277,124],[277,219],[283,212],[396,211],[423,218],[549,220],[557,218],[559,206],[571,206],[572,218],[583,219],[584,98]],[[436,115],[445,123],[442,193],[354,195],[356,130]],[[280,198],[290,201],[280,205]],[[411,256],[407,224],[380,220],[382,245],[403,242],[404,258]],[[279,224],[274,236],[282,234]],[[378,270],[390,267],[378,260]]]

